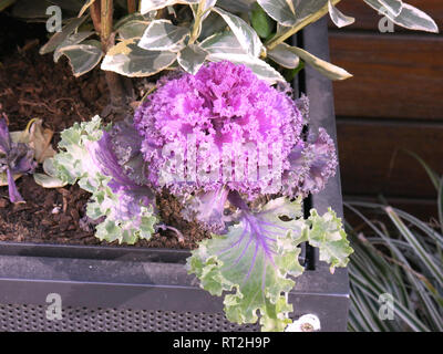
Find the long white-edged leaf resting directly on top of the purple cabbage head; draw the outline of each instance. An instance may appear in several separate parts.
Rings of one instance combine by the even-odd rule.
[[[270,66],[267,62],[247,54],[233,54],[233,53],[214,53],[207,56],[212,62],[230,61],[234,64],[245,64],[248,66],[259,79],[265,80],[268,84],[274,85],[277,82],[285,82],[280,73]]]

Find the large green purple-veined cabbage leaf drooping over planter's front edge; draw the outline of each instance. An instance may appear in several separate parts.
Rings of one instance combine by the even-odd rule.
[[[278,198],[259,212],[246,215],[224,236],[213,235],[200,242],[187,260],[187,268],[213,295],[225,295],[229,321],[255,323],[260,314],[264,331],[284,331],[291,322],[286,294],[295,282],[288,275],[300,275],[298,262],[303,241],[305,222],[282,221],[279,216],[300,217],[300,200]]]

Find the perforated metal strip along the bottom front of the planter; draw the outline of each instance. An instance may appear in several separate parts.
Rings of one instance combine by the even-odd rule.
[[[44,305],[0,305],[2,332],[255,332],[258,325],[229,323],[223,313],[64,308],[49,321]]]

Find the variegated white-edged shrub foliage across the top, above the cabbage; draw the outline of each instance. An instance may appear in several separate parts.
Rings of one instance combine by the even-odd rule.
[[[12,4],[12,12],[18,17],[44,20],[45,8],[59,4],[63,14],[78,14],[68,18],[62,32],[53,34],[40,51],[42,54],[55,51],[55,61],[61,55],[66,55],[76,76],[99,65],[103,55],[102,70],[130,77],[150,76],[177,66],[195,73],[205,61],[230,60],[248,65],[256,74],[274,84],[284,81],[284,77],[268,65],[266,58],[291,70],[298,67],[301,60],[331,80],[352,76],[346,70],[300,48],[284,43],[328,13],[339,28],[353,23],[353,18],[341,13],[336,7],[339,2],[340,0],[241,0],[235,3],[224,0],[141,0],[140,12],[114,19],[113,30],[117,34],[117,42],[107,48],[107,53],[100,52],[96,42],[89,39],[93,33],[86,34],[89,31],[84,30],[92,27],[91,18],[86,15],[93,3],[91,0],[23,0],[14,4],[12,0],[3,0],[0,2],[0,11]],[[427,14],[401,0],[364,2],[377,11],[387,12],[385,15],[398,25],[411,30],[439,31]],[[120,8],[125,11],[125,1],[122,7],[119,3],[115,3],[119,8],[115,13],[122,13]],[[179,11],[177,6],[181,6]],[[249,19],[249,22],[245,19]],[[205,55],[204,43],[207,45],[209,38],[214,40],[214,34],[223,38],[224,33],[229,32],[239,43],[241,55],[238,55],[237,46],[219,46],[216,54]],[[101,35],[95,34],[97,38]],[[260,38],[266,42],[261,43]],[[94,38],[92,40],[95,41]],[[107,45],[102,43],[102,48],[105,44]]]

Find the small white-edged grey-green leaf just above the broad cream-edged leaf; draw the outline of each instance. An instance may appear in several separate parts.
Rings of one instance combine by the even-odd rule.
[[[138,42],[138,46],[148,51],[179,51],[189,29],[177,27],[167,20],[155,20],[150,23]]]

